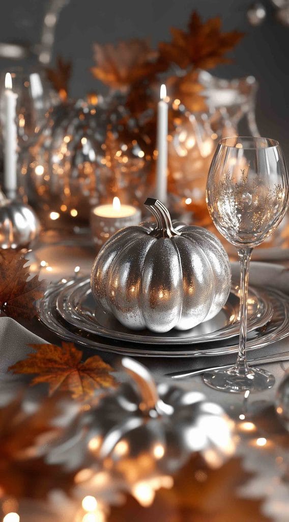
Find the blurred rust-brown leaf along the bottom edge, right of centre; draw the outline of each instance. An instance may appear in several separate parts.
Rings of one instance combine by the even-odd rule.
[[[108,522],[158,520],[158,522],[269,522],[261,513],[261,500],[238,496],[237,488],[251,474],[239,459],[219,469],[208,469],[198,456],[174,474],[171,489],[160,489],[149,507],[131,496],[121,507],[112,507]]]

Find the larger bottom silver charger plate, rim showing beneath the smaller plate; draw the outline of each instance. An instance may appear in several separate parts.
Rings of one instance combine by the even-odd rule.
[[[68,283],[69,284],[69,283]],[[210,357],[236,353],[238,344],[235,339],[221,342],[207,343],[206,345],[144,345],[113,340],[96,336],[76,328],[67,323],[57,312],[56,300],[59,294],[59,284],[52,285],[44,299],[37,302],[37,312],[41,322],[57,334],[60,338],[72,341],[87,348],[100,351],[132,355],[134,357]],[[289,336],[289,300],[278,291],[268,291],[268,298],[273,307],[271,321],[259,329],[248,334],[247,350],[257,350],[272,342],[280,341]]]

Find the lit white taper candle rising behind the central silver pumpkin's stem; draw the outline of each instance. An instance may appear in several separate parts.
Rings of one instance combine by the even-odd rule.
[[[167,170],[168,170],[168,104],[165,101],[167,89],[164,84],[160,87],[160,101],[158,102],[157,117],[157,176],[156,197],[162,203],[167,202]]]

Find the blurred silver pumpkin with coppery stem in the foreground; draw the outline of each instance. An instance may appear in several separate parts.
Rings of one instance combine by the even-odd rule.
[[[77,476],[81,496],[93,494],[114,504],[130,492],[142,503],[137,486],[145,482],[153,500],[150,481],[169,479],[191,454],[200,453],[209,467],[221,466],[233,454],[233,423],[219,405],[202,393],[156,384],[134,359],[123,358],[121,366],[130,378],[122,372],[124,382],[96,397],[49,453],[51,464],[71,470],[85,463],[89,473]]]

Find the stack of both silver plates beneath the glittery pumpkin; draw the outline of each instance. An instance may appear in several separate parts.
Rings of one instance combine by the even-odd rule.
[[[59,337],[89,348],[137,357],[199,357],[238,350],[239,304],[238,287],[233,284],[219,314],[191,330],[133,331],[95,304],[89,278],[76,278],[49,287],[37,309],[42,323]],[[288,297],[277,290],[250,287],[247,331],[248,350],[288,336]]]

